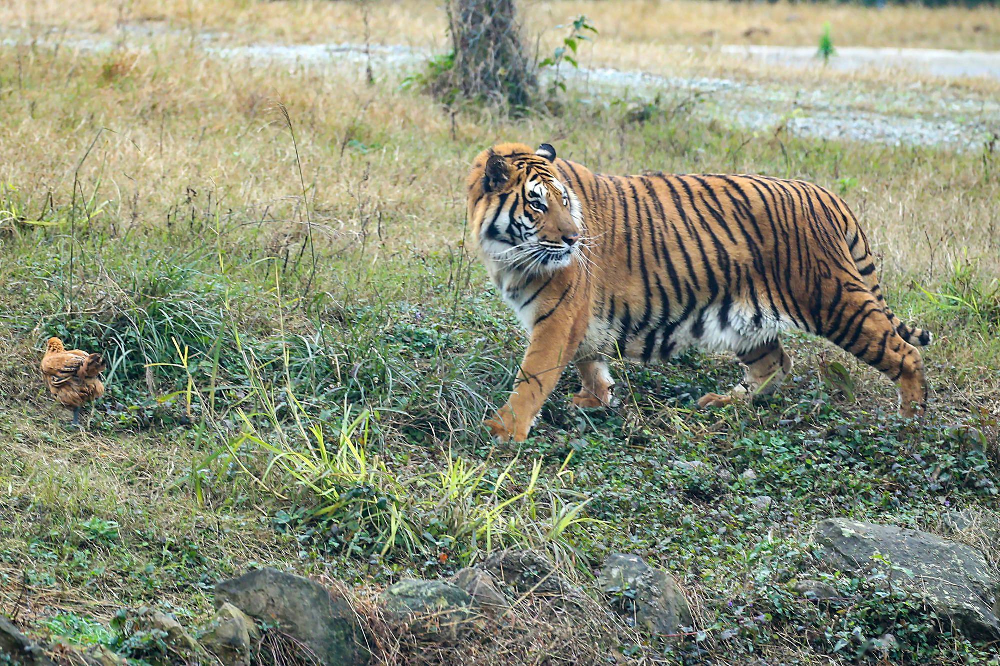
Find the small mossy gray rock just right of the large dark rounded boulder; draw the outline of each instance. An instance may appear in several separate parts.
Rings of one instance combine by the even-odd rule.
[[[380,597],[386,611],[406,618],[410,629],[427,637],[456,640],[472,616],[472,597],[451,583],[404,578]]]

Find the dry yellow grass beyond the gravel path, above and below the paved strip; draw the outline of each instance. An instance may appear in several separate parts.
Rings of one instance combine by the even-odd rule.
[[[367,10],[367,11],[366,11]],[[722,44],[815,46],[830,21],[838,47],[891,46],[1000,49],[1000,12],[910,6],[868,9],[853,4],[701,2],[696,0],[526,1],[524,23],[531,46],[551,53],[573,17],[586,14],[600,35],[584,45],[581,63],[641,70],[661,76],[714,76],[827,87],[858,85],[930,87],[928,109],[943,90],[957,89],[989,101],[1000,81],[944,80],[908,70],[775,67],[713,48]],[[249,2],[247,0],[19,0],[0,6],[0,25],[34,36],[94,32],[135,43],[153,36],[208,35],[220,44],[351,43],[403,45],[443,52],[449,48],[438,0],[390,2]],[[921,109],[914,109],[919,111]]]

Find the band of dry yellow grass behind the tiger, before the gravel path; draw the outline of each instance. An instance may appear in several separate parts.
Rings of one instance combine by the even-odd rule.
[[[433,100],[392,86],[360,85],[357,74],[221,62],[174,40],[160,44],[169,59],[28,48],[0,53],[0,67],[20,66],[41,79],[5,98],[0,183],[22,190],[29,209],[41,207],[50,192],[69,199],[77,162],[107,128],[81,177],[86,191],[100,180],[100,198],[129,224],[141,228],[162,220],[190,198],[190,188],[203,197],[211,191],[223,207],[266,212],[270,220],[297,226],[303,216],[294,152],[274,110],[283,101],[302,126],[299,148],[324,238],[349,240],[381,211],[395,225],[389,248],[433,249],[460,237],[467,160],[500,139],[550,140],[567,156],[608,172],[754,172],[767,170],[780,150],[774,143],[725,164],[698,153],[650,163],[636,157],[650,146],[640,150],[642,137],[624,128],[584,138],[571,119],[536,117],[515,126],[464,114],[454,118],[453,128]],[[424,139],[414,141],[415,133]],[[368,146],[367,152],[347,148],[352,141]],[[994,181],[993,197],[963,195],[963,182],[981,178],[964,173],[964,165],[939,163],[928,153],[908,170],[843,174],[857,179],[849,199],[887,253],[884,271],[940,276],[949,258],[968,250],[984,268],[1000,272],[1000,235],[983,233],[995,225],[998,186]],[[436,176],[422,177],[426,173]]]

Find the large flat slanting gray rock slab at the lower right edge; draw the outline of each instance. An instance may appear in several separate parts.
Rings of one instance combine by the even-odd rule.
[[[1000,639],[1000,579],[975,548],[929,532],[847,518],[821,521],[816,538],[823,546],[823,559],[845,571],[885,569],[872,559],[881,553],[896,567],[913,572],[912,576],[898,569],[887,572],[894,585],[949,616],[970,638]]]

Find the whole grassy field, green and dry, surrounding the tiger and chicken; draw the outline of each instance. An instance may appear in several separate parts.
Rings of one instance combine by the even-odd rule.
[[[894,34],[899,45],[996,48],[1000,34],[995,14],[967,10],[886,10],[898,31],[850,6],[530,11],[549,25],[563,4],[621,49],[671,35],[701,43],[719,23],[717,39],[736,40],[743,23],[722,22],[723,9],[770,21],[768,39],[781,43],[812,43],[788,15],[812,25],[823,12],[844,17],[841,34],[857,44]],[[662,14],[676,32],[646,32],[621,5]],[[86,18],[113,32],[165,19],[237,41],[358,40],[352,3],[293,6],[60,3],[57,16],[39,2],[0,8],[0,21],[13,12],[40,31]],[[434,43],[435,6],[373,11],[373,40]],[[942,31],[912,29],[926,17]],[[285,31],[271,31],[279,20]],[[990,28],[971,30],[980,23]],[[826,572],[843,595],[828,606],[791,591],[823,573],[817,519],[937,530],[948,510],[1000,508],[992,147],[747,132],[692,121],[690,100],[669,91],[641,118],[573,95],[557,115],[448,113],[398,77],[254,67],[213,59],[183,32],[158,40],[143,52],[0,49],[3,612],[42,635],[110,641],[96,623],[119,608],[204,617],[214,580],[252,564],[375,589],[519,544],[584,583],[615,550],[670,569],[704,634],[649,639],[636,659],[847,663],[858,636],[893,633],[892,663],[995,663],[996,645],[970,642],[912,599],[880,597],[873,581]],[[692,353],[616,368],[621,406],[609,410],[573,408],[568,373],[531,440],[495,446],[479,423],[505,399],[525,338],[475,260],[463,181],[502,139],[550,142],[604,172],[765,173],[842,193],[894,309],[936,335],[927,419],[899,421],[877,373],[791,335],[794,380],[767,405],[694,410],[740,370]],[[49,335],[110,359],[108,393],[84,430],[65,427],[38,375]]]

